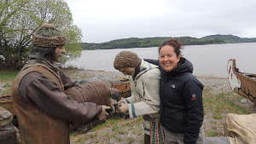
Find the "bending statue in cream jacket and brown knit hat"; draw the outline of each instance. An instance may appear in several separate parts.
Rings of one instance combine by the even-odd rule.
[[[122,51],[116,55],[113,66],[125,75],[132,76],[131,97],[119,101],[118,111],[129,113],[130,118],[143,116],[144,143],[161,144],[163,130],[159,124],[159,69],[131,51]]]

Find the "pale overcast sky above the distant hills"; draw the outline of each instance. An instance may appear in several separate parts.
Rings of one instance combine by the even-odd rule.
[[[82,42],[128,37],[256,37],[256,0],[65,0]]]

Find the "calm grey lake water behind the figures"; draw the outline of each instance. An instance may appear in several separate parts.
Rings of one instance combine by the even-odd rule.
[[[122,50],[131,50],[141,58],[157,59],[158,48],[84,50],[79,59],[67,65],[84,69],[115,71],[113,59]],[[194,74],[199,76],[226,77],[227,61],[236,59],[241,72],[256,73],[256,43],[229,43],[184,46],[183,56],[194,66]]]

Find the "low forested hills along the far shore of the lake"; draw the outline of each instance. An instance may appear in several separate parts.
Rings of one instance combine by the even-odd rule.
[[[158,47],[160,43],[171,37],[124,38],[106,43],[82,43],[83,49],[128,49]],[[256,38],[242,38],[233,35],[210,35],[207,37],[172,37],[181,41],[183,45],[202,45],[215,43],[253,43]]]

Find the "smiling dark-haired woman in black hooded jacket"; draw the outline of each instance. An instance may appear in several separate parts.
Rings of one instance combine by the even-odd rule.
[[[165,144],[202,144],[204,118],[203,85],[193,75],[193,66],[181,55],[181,43],[170,39],[160,45],[160,124]]]

